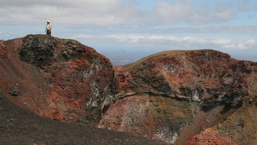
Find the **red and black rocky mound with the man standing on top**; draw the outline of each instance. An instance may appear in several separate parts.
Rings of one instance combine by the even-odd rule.
[[[19,82],[22,91],[9,98],[41,116],[74,122],[110,94],[109,59],[76,40],[38,34],[0,45],[0,85],[7,91]]]

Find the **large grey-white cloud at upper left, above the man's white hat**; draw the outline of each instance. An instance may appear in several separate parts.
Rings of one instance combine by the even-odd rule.
[[[1,3],[0,23],[39,24],[50,20],[59,25],[115,25],[136,23],[140,11],[119,0],[11,1]],[[137,16],[136,18],[133,16]]]

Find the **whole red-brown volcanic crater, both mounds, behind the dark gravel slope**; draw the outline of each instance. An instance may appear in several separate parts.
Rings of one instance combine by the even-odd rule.
[[[256,62],[204,49],[162,51],[112,66],[104,55],[76,40],[41,34],[0,41],[0,59],[5,102],[11,100],[47,122],[44,117],[175,145],[257,144]],[[0,105],[5,106],[2,99]],[[0,137],[8,141],[6,123],[1,123]],[[78,138],[91,133],[84,131]],[[17,140],[13,144],[22,142]],[[115,143],[107,139],[103,144]]]

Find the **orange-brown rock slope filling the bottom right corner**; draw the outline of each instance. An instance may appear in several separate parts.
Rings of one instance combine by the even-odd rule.
[[[185,145],[253,145],[257,142],[257,104],[244,104],[220,116],[212,127],[193,136]]]

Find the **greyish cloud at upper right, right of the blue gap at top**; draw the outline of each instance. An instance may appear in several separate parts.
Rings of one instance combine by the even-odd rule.
[[[193,1],[158,1],[151,13],[153,21],[162,24],[205,25],[232,20],[237,15],[233,3],[220,2],[215,7],[203,5],[195,7]]]

